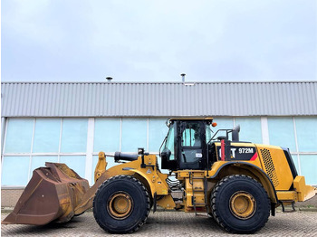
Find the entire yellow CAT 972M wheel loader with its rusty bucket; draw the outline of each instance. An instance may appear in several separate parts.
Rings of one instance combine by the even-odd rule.
[[[253,233],[277,206],[317,193],[297,174],[287,148],[240,141],[239,127],[213,133],[211,118],[169,119],[167,125],[159,155],[169,175],[160,172],[158,157],[143,148],[138,155],[115,153],[120,164],[110,169],[100,152],[91,188],[68,166],[46,163],[34,170],[3,223],[64,223],[92,207],[106,232],[127,233],[137,231],[150,209],[160,206],[208,213],[227,232]]]

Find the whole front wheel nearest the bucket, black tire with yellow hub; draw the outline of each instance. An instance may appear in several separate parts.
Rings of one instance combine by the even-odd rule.
[[[133,176],[113,176],[96,192],[93,215],[106,232],[135,232],[149,215],[147,189]]]

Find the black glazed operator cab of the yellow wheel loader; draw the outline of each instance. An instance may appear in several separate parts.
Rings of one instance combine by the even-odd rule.
[[[216,123],[208,119],[169,119],[168,136],[160,149],[161,167],[169,170],[205,169],[210,166],[207,142]],[[212,157],[211,157],[212,158]]]

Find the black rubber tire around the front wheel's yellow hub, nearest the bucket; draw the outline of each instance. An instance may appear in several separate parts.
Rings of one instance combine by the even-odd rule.
[[[147,200],[147,191],[138,182],[138,180],[132,177],[114,179],[102,186],[97,192],[93,203],[93,213],[97,223],[105,231],[118,233],[131,232],[147,217],[147,204],[149,203]],[[117,192],[129,194],[133,202],[132,212],[123,220],[114,219],[107,208],[110,196]]]

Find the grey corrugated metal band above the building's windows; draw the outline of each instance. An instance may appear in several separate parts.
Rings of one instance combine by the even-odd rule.
[[[2,117],[317,115],[317,81],[3,82]]]

